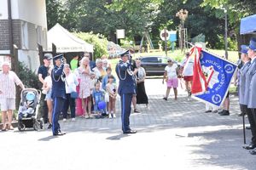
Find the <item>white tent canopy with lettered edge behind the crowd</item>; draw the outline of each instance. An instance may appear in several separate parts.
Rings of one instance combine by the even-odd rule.
[[[93,45],[84,42],[84,40],[80,39],[79,37],[75,37],[58,23],[47,32],[47,43],[49,51],[52,50],[51,44],[54,43],[57,53],[93,53]]]

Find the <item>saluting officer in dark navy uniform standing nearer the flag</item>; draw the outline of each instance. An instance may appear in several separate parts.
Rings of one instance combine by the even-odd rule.
[[[118,93],[121,98],[121,120],[123,133],[137,133],[130,128],[129,117],[131,115],[131,99],[136,94],[136,80],[131,71],[131,54],[127,50],[120,54],[121,60],[115,67],[117,76],[119,77]]]

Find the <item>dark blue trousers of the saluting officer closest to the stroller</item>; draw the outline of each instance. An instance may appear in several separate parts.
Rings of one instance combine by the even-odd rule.
[[[63,110],[65,99],[61,97],[53,98],[53,111],[52,111],[52,133],[57,134],[61,131],[61,127],[59,124],[59,116],[61,115],[61,111]]]

